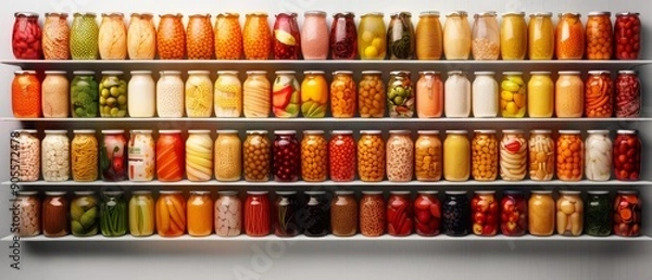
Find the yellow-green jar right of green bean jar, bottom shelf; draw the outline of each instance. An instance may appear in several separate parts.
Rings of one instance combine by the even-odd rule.
[[[129,233],[149,237],[154,233],[155,211],[151,191],[133,191],[129,200]]]

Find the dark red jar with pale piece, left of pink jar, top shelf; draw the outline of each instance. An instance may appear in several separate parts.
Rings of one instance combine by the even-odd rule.
[[[275,60],[298,60],[301,56],[301,37],[296,13],[276,15],[272,46]]]

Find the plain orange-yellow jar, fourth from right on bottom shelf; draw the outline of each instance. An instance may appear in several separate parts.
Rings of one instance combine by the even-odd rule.
[[[527,204],[527,226],[532,236],[552,236],[555,228],[552,191],[534,190]]]

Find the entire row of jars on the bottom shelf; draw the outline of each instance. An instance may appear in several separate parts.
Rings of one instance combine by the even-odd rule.
[[[23,237],[89,237],[101,233],[120,237],[130,233],[147,237],[178,237],[188,233],[221,237],[244,233],[264,237],[365,237],[385,233],[405,237],[413,233],[453,237],[474,233],[492,237],[547,237],[555,232],[578,237],[613,234],[637,237],[641,232],[641,201],[635,191],[618,191],[612,201],[609,191],[563,190],[556,202],[552,191],[531,191],[529,200],[522,191],[446,191],[440,203],[437,191],[247,191],[244,202],[236,191],[218,191],[213,201],[210,191],[191,191],[188,200],[181,191],[134,191],[129,200],[122,191],[104,191],[101,200],[93,191],[47,191],[40,202],[38,192],[21,191],[12,201],[16,212],[16,233]],[[500,229],[500,230],[499,230]]]

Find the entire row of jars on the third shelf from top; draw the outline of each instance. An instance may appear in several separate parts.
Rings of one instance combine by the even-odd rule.
[[[265,130],[248,130],[241,141],[238,130],[46,130],[42,142],[36,130],[12,133],[12,161],[21,181],[237,181],[264,182],[391,182],[418,181],[607,181],[639,180],[642,144],[636,130],[617,130],[612,142],[609,130],[531,130],[529,140],[518,129],[447,130],[443,143],[437,130],[419,130],[416,141],[410,130],[334,130],[326,140],[323,130],[305,130],[301,140],[294,130],[276,130],[269,140]],[[39,149],[39,147],[41,149]],[[128,152],[127,152],[128,151]],[[12,167],[13,168],[13,167]],[[127,173],[128,170],[128,173]],[[272,177],[273,176],[273,177]]]

